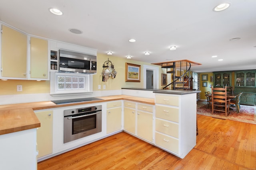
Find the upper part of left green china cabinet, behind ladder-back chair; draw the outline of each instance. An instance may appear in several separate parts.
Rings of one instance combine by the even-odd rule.
[[[231,86],[232,82],[232,72],[213,72],[213,86],[223,87]]]

